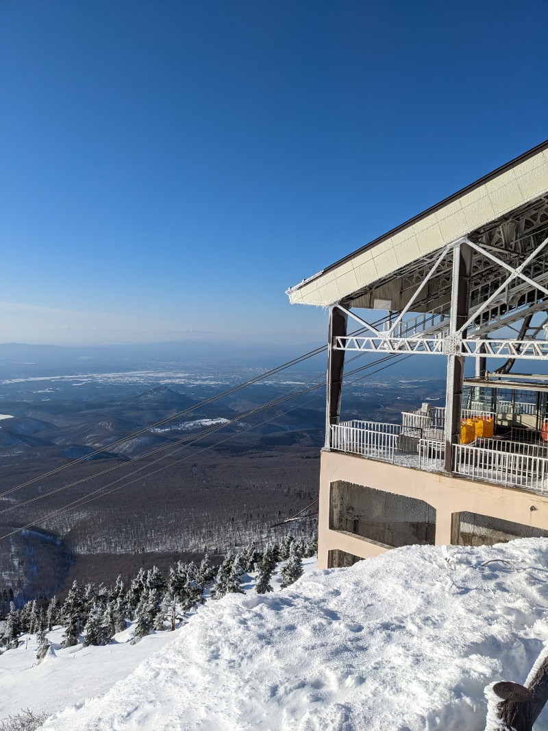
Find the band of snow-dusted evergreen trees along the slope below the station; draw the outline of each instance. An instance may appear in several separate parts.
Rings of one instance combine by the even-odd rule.
[[[316,550],[315,538],[288,535],[281,542],[268,543],[264,550],[248,545],[237,553],[229,551],[219,566],[213,566],[206,555],[199,564],[178,561],[166,575],[157,567],[141,568],[132,580],[124,583],[119,576],[110,588],[75,581],[62,603],[53,596],[45,605],[33,599],[16,609],[11,602],[0,635],[0,652],[17,648],[21,635],[37,634],[37,659],[41,660],[50,646],[47,632],[55,626],[64,628],[62,645],[67,648],[80,642],[107,645],[128,622],[134,622],[134,644],[152,631],[175,629],[208,599],[243,594],[242,577],[250,572],[256,572],[256,593],[266,594],[273,591],[272,576],[283,561],[281,586],[290,586],[302,575],[302,558],[313,556]]]

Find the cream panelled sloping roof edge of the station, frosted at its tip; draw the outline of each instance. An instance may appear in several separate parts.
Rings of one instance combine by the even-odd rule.
[[[500,223],[512,211],[548,196],[548,140],[507,162],[427,211],[371,241],[287,290],[293,304],[329,306],[353,302],[379,307],[368,297],[378,285],[403,276],[453,241]],[[384,308],[384,307],[382,307]]]

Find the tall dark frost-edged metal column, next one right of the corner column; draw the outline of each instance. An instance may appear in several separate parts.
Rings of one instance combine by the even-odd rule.
[[[449,343],[452,352],[447,355],[447,387],[445,411],[445,469],[452,471],[453,444],[460,442],[460,414],[463,404],[464,357],[459,352],[457,336],[468,319],[468,281],[471,273],[472,249],[466,243],[457,243],[453,249],[453,278]],[[466,333],[462,333],[466,337]]]

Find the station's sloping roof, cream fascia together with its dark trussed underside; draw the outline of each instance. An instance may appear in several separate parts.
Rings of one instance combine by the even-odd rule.
[[[292,303],[400,310],[432,268],[440,250],[468,237],[514,264],[548,236],[548,141],[494,173],[407,221],[329,268],[288,290]],[[548,278],[539,257],[531,273]],[[471,292],[500,268],[475,256]],[[448,303],[451,258],[430,280],[414,311],[431,312]]]

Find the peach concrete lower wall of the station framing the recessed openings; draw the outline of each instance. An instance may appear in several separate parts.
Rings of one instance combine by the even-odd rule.
[[[327,568],[330,550],[343,550],[361,558],[378,556],[389,550],[387,545],[379,542],[330,529],[331,485],[339,481],[425,501],[436,511],[435,545],[457,542],[457,514],[461,512],[479,513],[521,523],[531,529],[548,530],[548,495],[323,450],[318,534],[320,568]]]

